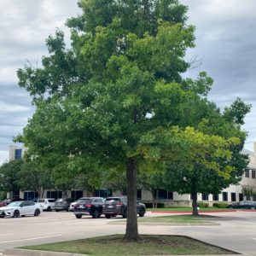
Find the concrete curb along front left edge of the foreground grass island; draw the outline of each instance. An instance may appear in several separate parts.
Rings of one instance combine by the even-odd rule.
[[[26,250],[26,249],[5,249],[4,255],[20,255],[20,256],[86,256],[88,254],[80,253],[62,253],[62,252],[49,252],[49,251],[38,251],[38,250]]]

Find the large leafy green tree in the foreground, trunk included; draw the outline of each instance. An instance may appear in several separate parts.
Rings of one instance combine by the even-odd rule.
[[[45,166],[87,173],[90,183],[125,170],[125,240],[137,241],[137,172],[185,159],[185,132],[173,125],[195,126],[216,111],[204,98],[212,79],[182,77],[195,28],[177,0],[80,0],[79,7],[83,14],[67,20],[71,49],[57,31],[42,67],[18,71],[37,108],[22,141]]]

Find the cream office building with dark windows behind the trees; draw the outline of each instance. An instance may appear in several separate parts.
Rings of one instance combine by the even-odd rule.
[[[15,160],[22,158],[25,152],[25,148],[17,148],[15,146],[9,147],[9,160]],[[198,201],[204,201],[212,206],[214,202],[236,202],[236,201],[256,201],[256,143],[253,143],[253,151],[244,150],[244,154],[248,154],[250,158],[249,165],[246,172],[241,178],[241,182],[237,185],[230,185],[229,188],[223,189],[218,195],[198,194]],[[249,195],[245,191],[251,191]],[[45,191],[44,197],[59,198],[61,197],[61,191],[49,190]],[[75,200],[82,196],[89,196],[90,193],[86,190],[70,191],[70,197]],[[118,192],[112,193],[108,189],[96,190],[95,196],[107,197],[110,195],[119,195]],[[34,191],[20,191],[20,198],[25,200],[35,200],[37,198],[37,192]],[[139,189],[137,191],[137,198],[142,201],[153,201],[152,193],[147,190]],[[163,203],[165,206],[191,206],[190,195],[179,195],[177,192],[166,191],[165,189],[157,189],[156,201]]]

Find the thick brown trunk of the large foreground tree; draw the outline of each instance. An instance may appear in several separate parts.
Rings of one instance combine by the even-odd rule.
[[[128,158],[126,166],[127,178],[127,221],[125,241],[138,241],[140,237],[137,230],[137,185],[136,185],[137,160]]]

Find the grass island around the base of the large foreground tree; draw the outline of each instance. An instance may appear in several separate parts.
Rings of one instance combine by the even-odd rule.
[[[94,256],[119,255],[209,255],[232,254],[228,250],[194,240],[187,236],[143,235],[139,242],[125,242],[124,235],[101,236],[77,241],[64,241],[21,247],[33,250],[84,253]]]

